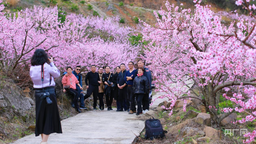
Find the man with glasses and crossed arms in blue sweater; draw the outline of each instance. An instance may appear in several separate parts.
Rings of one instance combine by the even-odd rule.
[[[134,70],[133,66],[134,66],[134,63],[129,62],[128,67],[129,67],[130,70],[126,71],[126,73],[125,73],[128,99],[129,99],[130,104],[131,104],[131,106],[130,106],[131,110],[128,111],[129,114],[137,113],[136,106],[135,106],[135,95],[134,95],[133,89],[132,89],[133,80],[135,78],[135,70]]]

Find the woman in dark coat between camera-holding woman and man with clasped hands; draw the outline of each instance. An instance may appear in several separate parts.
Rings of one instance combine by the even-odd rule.
[[[114,99],[116,100],[117,110],[119,110],[120,109],[120,103],[118,101],[117,77],[118,77],[118,73],[121,71],[120,66],[117,66],[115,68],[115,71],[116,71],[116,73],[113,75],[113,79],[112,79],[112,82],[115,85],[115,87],[112,87],[112,94],[113,94]]]

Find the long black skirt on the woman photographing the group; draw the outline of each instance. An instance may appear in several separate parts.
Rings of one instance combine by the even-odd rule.
[[[44,88],[44,92],[50,93],[51,105],[47,105],[45,99],[40,99],[43,94],[42,89],[35,90],[36,98],[36,137],[40,134],[49,135],[51,133],[62,133],[60,114],[57,106],[56,93],[54,87]]]

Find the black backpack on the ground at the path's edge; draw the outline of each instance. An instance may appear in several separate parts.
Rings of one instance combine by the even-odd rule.
[[[166,131],[163,130],[161,122],[158,119],[154,119],[153,116],[151,117],[145,121],[145,139],[154,140],[165,137]]]

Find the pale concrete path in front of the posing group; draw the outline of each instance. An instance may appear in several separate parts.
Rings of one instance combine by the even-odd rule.
[[[128,120],[136,117],[128,112],[88,111],[62,120],[62,134],[53,133],[48,144],[131,144],[139,135],[144,121]],[[132,133],[133,132],[133,133]],[[23,137],[13,144],[40,144],[41,136]]]

